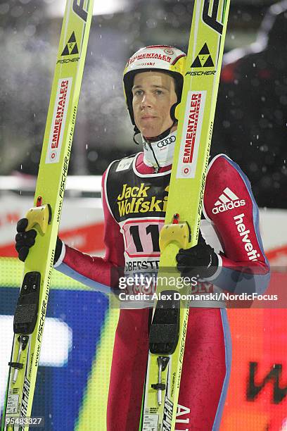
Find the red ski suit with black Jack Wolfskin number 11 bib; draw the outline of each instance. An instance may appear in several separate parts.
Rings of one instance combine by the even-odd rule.
[[[157,270],[171,165],[158,173],[144,154],[111,163],[103,175],[106,256],[63,246],[56,267],[100,292],[117,290],[121,270]],[[182,192],[182,191],[179,191]],[[262,293],[269,264],[250,182],[224,154],[209,165],[200,230],[219,256],[210,283],[229,292]],[[248,275],[245,277],[244,275]],[[138,431],[148,360],[151,308],[123,307],[115,333],[108,395],[108,431]],[[181,374],[177,431],[218,430],[231,368],[231,339],[223,306],[191,308]]]

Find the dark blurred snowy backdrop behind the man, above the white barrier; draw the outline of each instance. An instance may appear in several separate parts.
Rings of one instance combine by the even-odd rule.
[[[212,154],[222,152],[241,165],[260,206],[287,208],[287,15],[276,15],[276,7],[270,11],[274,3],[231,1]],[[61,0],[0,3],[0,175],[37,174],[63,5]],[[287,10],[286,1],[279,6]],[[101,175],[110,161],[139,151],[122,71],[141,46],[170,44],[187,51],[193,1],[106,0],[97,7],[70,175]],[[276,19],[271,27],[263,23],[263,31],[266,13]],[[242,47],[247,48],[231,51]]]

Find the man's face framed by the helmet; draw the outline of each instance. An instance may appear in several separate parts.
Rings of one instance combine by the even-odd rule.
[[[144,137],[156,137],[172,127],[170,108],[177,103],[172,76],[157,71],[137,73],[132,96],[134,121]]]

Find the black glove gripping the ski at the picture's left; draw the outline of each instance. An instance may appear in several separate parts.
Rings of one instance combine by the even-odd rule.
[[[37,231],[34,229],[25,231],[28,225],[27,218],[21,218],[17,223],[17,232],[18,234],[15,236],[15,249],[18,253],[18,258],[20,261],[25,262],[25,259],[28,256],[29,249],[35,244],[35,238],[37,235]],[[58,261],[62,251],[63,242],[57,237],[56,250],[53,264]]]

